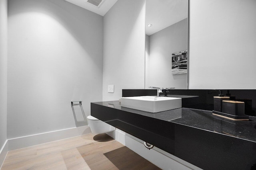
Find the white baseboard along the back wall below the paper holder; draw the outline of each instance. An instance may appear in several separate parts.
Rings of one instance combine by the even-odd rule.
[[[52,131],[47,133],[40,133],[36,135],[30,135],[14,139],[8,139],[8,150],[21,149],[33,145],[39,145],[42,143],[48,143],[70,137],[76,137],[87,133],[91,133],[89,125],[82,127],[74,127],[70,129],[63,129],[59,131]]]

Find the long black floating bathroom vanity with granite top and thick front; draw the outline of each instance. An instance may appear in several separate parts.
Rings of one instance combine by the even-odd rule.
[[[91,103],[91,115],[205,170],[256,167],[256,117],[231,121],[184,106],[149,113],[118,101]]]

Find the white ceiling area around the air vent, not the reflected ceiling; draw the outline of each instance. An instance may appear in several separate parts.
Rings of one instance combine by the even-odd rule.
[[[80,6],[86,10],[92,11],[96,14],[104,16],[108,10],[118,1],[118,0],[102,0],[100,5],[94,6],[87,2],[87,0],[65,0],[77,6]]]

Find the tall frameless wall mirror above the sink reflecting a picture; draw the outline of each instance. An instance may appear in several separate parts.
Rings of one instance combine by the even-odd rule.
[[[188,0],[146,0],[145,88],[187,89]]]

